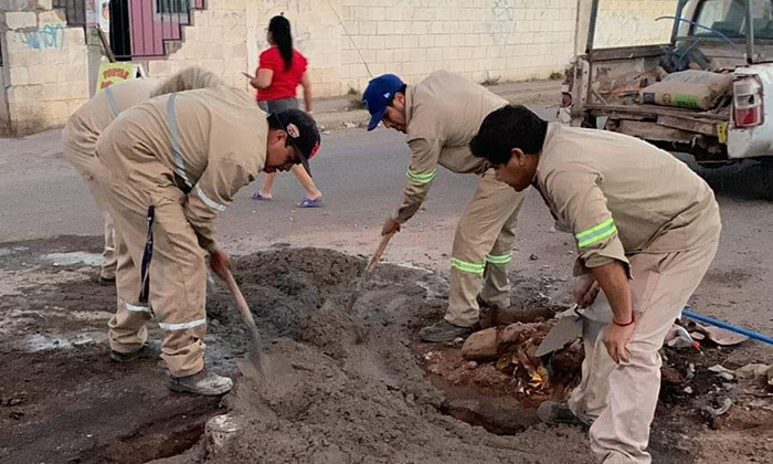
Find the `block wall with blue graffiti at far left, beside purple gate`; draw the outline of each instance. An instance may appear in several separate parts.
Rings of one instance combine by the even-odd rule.
[[[22,136],[66,123],[88,99],[82,28],[68,28],[51,0],[9,0],[0,11],[4,135]]]

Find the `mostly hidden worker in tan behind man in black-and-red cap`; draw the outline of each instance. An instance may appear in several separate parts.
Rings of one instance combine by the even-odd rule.
[[[64,157],[75,167],[86,181],[99,212],[105,219],[105,247],[102,254],[99,280],[115,281],[116,253],[113,219],[108,212],[106,194],[100,190],[96,179],[96,143],[99,134],[124,109],[130,108],[146,99],[170,92],[220,85],[220,80],[212,73],[199,67],[190,67],[160,83],[152,78],[133,78],[105,87],[78,110],[73,113],[62,131]]]

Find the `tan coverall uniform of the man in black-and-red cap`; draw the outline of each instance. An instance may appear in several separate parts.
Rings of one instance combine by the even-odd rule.
[[[266,115],[225,86],[172,93],[124,113],[97,143],[118,230],[118,309],[110,348],[131,352],[152,316],[167,330],[161,358],[174,377],[204,367],[207,266],[214,219],[266,157]],[[156,209],[149,298],[140,302],[148,207]]]

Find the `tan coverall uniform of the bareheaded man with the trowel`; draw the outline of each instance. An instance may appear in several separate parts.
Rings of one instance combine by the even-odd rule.
[[[604,463],[649,463],[658,349],[717,251],[713,192],[684,162],[645,141],[557,124],[549,126],[536,184],[557,226],[576,240],[575,273],[618,261],[632,277],[631,361],[616,365],[602,334],[584,333],[582,383],[569,405],[593,421],[591,445]],[[605,298],[596,305],[610,310]]]

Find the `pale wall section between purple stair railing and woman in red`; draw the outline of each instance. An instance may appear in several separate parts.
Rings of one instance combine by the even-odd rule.
[[[250,0],[254,1],[254,0]],[[247,88],[248,0],[210,0],[205,10],[193,10],[193,24],[183,27],[181,42],[167,44],[166,60],[145,63],[148,75],[169,77],[197,65],[223,78],[225,84]]]

